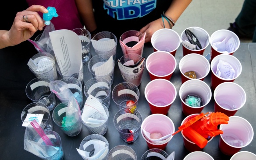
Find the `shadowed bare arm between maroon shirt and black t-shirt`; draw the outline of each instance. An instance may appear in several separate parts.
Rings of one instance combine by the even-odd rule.
[[[95,31],[97,26],[94,19],[92,0],[75,0],[75,3],[82,21],[85,24],[85,29],[89,32]]]

